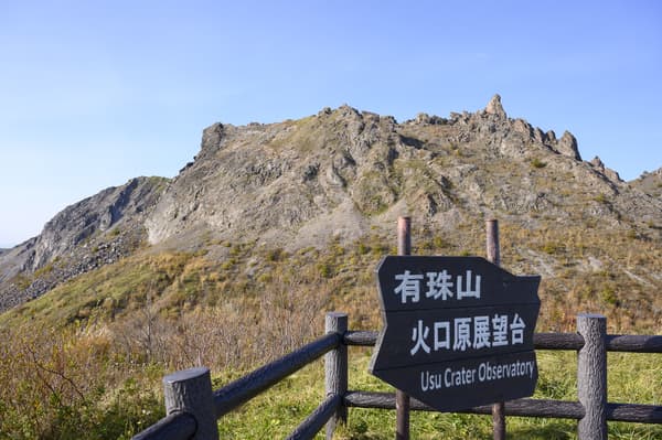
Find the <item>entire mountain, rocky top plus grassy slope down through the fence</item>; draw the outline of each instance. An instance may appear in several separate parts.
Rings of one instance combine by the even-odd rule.
[[[0,437],[128,438],[163,412],[160,379],[204,365],[214,385],[321,335],[325,311],[381,328],[374,269],[413,213],[413,254],[483,255],[538,273],[538,332],[579,312],[609,333],[662,334],[660,174],[623,182],[576,139],[484,110],[393,117],[349,106],[281,124],[214,124],[172,181],[140,178],[65,208],[0,256]],[[149,243],[149,244],[148,244]],[[351,387],[385,389],[353,350]],[[537,396],[575,399],[574,353],[541,353]],[[659,355],[610,356],[610,399],[662,401]],[[322,397],[314,363],[225,417],[223,438],[282,437]],[[393,437],[351,410],[340,439]],[[512,418],[516,438],[575,422]],[[488,438],[489,417],[419,414],[415,438]],[[610,423],[612,438],[661,438]]]

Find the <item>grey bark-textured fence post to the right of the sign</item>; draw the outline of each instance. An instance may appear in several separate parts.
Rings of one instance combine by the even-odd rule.
[[[577,332],[584,336],[577,354],[577,394],[586,411],[577,436],[580,440],[607,440],[607,319],[580,313]]]

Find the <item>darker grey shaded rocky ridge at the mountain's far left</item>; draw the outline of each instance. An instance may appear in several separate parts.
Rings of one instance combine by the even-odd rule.
[[[0,310],[134,251],[166,184],[163,178],[137,178],[106,189],[63,210],[38,237],[0,254]]]

